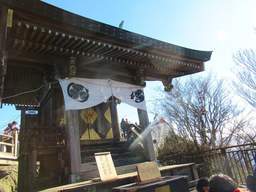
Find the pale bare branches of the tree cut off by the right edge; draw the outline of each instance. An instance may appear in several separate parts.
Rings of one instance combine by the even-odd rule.
[[[254,28],[256,32],[256,28]],[[232,72],[236,75],[233,87],[240,97],[251,106],[256,107],[256,54],[250,49],[240,49],[232,55],[235,66]]]

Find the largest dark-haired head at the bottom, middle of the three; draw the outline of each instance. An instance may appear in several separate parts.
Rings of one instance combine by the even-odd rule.
[[[210,177],[209,192],[232,192],[237,188],[234,180],[227,175],[214,174]]]

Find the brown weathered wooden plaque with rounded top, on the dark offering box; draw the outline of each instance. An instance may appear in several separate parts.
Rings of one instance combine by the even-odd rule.
[[[156,162],[145,162],[136,166],[140,182],[161,178]]]

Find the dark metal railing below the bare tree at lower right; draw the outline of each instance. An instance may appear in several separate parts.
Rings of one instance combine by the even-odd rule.
[[[175,164],[196,163],[203,164],[198,170],[200,177],[210,176],[211,174],[221,172],[234,179],[238,184],[246,184],[246,177],[252,174],[256,166],[255,149],[256,143],[236,145],[215,150],[205,150],[191,154],[173,156]],[[220,165],[217,161],[217,155],[220,159]],[[185,157],[184,157],[185,156]],[[221,168],[220,168],[221,166]]]

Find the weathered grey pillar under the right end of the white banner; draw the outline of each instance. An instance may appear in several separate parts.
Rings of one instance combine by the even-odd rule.
[[[154,150],[154,144],[152,140],[148,112],[146,110],[138,110],[138,116],[140,121],[140,129],[142,135],[142,143],[144,147],[144,152],[146,156],[146,161],[156,161],[156,154]]]

